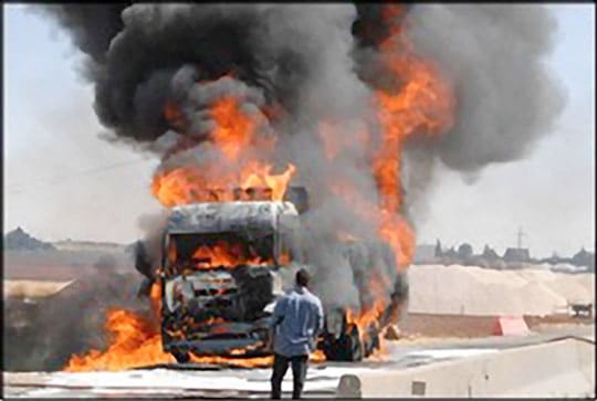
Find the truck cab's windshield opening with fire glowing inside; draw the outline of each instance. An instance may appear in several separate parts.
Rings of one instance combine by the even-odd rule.
[[[274,264],[273,234],[250,236],[237,232],[170,234],[168,264],[171,273],[185,270]]]

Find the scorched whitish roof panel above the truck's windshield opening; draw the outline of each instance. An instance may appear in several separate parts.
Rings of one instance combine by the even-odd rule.
[[[284,217],[280,219],[280,217]],[[292,202],[201,202],[175,207],[168,219],[169,233],[210,233],[243,230],[276,230],[298,218]]]

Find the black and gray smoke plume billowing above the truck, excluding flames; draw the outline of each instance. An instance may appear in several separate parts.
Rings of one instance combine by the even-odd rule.
[[[346,278],[343,286],[352,285],[328,239],[338,231],[375,239],[378,222],[359,217],[332,193],[331,183],[348,182],[363,199],[377,202],[373,155],[357,138],[366,125],[371,143],[379,140],[371,93],[402,84],[390,80],[379,51],[392,32],[383,6],[138,3],[44,10],[87,54],[85,74],[95,84],[102,124],[117,140],[149,144],[163,157],[160,170],[209,160],[212,155],[199,146],[214,128],[208,105],[222,96],[240,98],[240,108],[259,122],[259,136],[277,138],[274,155],[250,145],[247,154],[276,166],[293,162],[300,171],[294,183],[310,191],[305,222],[321,240],[311,255],[326,268],[322,291],[333,292],[325,297],[355,293],[327,285],[337,275]],[[409,213],[441,166],[437,159],[464,173],[519,159],[548,134],[563,96],[543,65],[555,24],[541,6],[417,4],[396,18],[454,88],[458,106],[454,126],[439,141],[422,139],[406,149],[401,212]],[[180,110],[176,120],[165,118],[170,103]],[[329,139],[341,150],[332,160],[322,122],[337,127]],[[394,279],[394,261],[374,249],[365,252],[376,261],[369,273]]]

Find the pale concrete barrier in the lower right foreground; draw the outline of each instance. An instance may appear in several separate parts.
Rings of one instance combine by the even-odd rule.
[[[341,378],[337,397],[595,397],[595,342],[566,338]]]

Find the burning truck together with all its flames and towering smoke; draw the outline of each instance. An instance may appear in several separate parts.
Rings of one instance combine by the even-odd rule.
[[[542,61],[545,9],[46,10],[85,56],[104,138],[159,160],[150,191],[170,212],[167,224],[142,228],[137,247],[150,316],[108,312],[107,349],[73,357],[71,370],[268,352],[269,314],[298,266],[312,270],[325,305],[321,351],[366,356],[404,310],[415,222],[436,171],[475,177],[520,159],[562,109]],[[272,175],[282,166],[292,168]],[[289,188],[294,172],[308,209]]]

